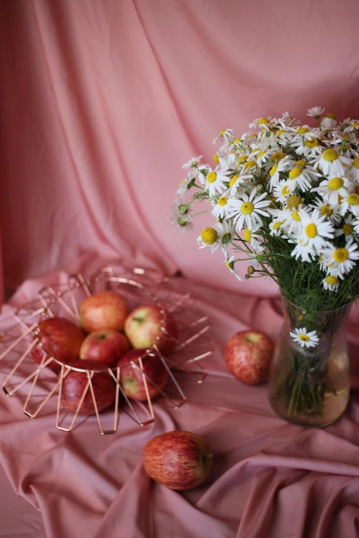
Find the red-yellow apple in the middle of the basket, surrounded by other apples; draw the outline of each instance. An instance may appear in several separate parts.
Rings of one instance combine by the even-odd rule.
[[[80,359],[100,361],[110,368],[130,348],[127,338],[118,330],[102,329],[90,333],[80,348]]]

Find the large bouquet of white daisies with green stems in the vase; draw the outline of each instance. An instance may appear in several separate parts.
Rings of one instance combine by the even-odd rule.
[[[194,207],[205,202],[213,221],[197,238],[199,248],[224,256],[238,280],[236,264],[248,260],[246,279],[266,276],[279,285],[294,346],[281,397],[312,416],[323,412],[330,390],[319,344],[336,332],[333,317],[321,313],[338,312],[359,295],[359,121],[338,123],[323,113],[309,109],[314,126],[285,113],[257,118],[239,137],[221,131],[213,166],[202,155],[184,164],[172,220],[180,232],[191,231]],[[294,370],[302,372],[300,388]]]

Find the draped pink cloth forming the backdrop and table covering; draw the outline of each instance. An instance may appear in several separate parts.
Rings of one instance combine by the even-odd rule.
[[[180,410],[155,403],[101,437],[53,412],[34,421],[0,396],[0,536],[25,538],[327,538],[359,533],[358,314],[349,320],[351,401],[323,430],[277,418],[265,384],[241,385],[222,350],[252,326],[273,338],[278,290],[237,282],[195,234],[169,225],[181,166],[211,159],[226,127],[322,105],[359,115],[359,4],[352,0],[14,0],[0,6],[0,225],[3,274],[34,297],[59,269],[124,260],[174,275],[213,320],[216,349]],[[239,272],[245,271],[245,264]],[[52,273],[51,276],[48,276]],[[3,373],[0,373],[3,381]],[[142,449],[191,429],[215,453],[199,489],[176,493],[144,473]],[[15,493],[19,494],[16,495]]]

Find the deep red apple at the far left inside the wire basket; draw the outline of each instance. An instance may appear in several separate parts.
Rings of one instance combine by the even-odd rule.
[[[39,322],[39,339],[43,349],[63,363],[78,358],[84,338],[83,331],[63,317],[48,317]]]

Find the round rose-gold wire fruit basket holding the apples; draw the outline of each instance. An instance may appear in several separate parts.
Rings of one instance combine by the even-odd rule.
[[[136,361],[131,361],[133,368],[138,368],[142,375],[146,401],[131,401],[120,385],[121,367],[104,368],[103,370],[86,370],[71,363],[57,361],[45,350],[40,363],[32,359],[32,350],[39,348],[39,322],[47,317],[65,317],[78,324],[78,306],[85,298],[99,291],[118,291],[127,300],[129,311],[143,304],[155,304],[162,313],[162,335],[173,338],[166,331],[166,315],[171,315],[177,325],[178,335],[175,349],[166,357],[162,355],[156,341],[146,353]],[[43,412],[56,414],[56,428],[72,431],[84,418],[81,406],[91,393],[100,434],[113,434],[118,427],[119,412],[127,413],[140,426],[155,420],[153,401],[149,394],[148,383],[153,381],[144,372],[142,360],[146,355],[156,355],[168,372],[168,381],[157,396],[161,405],[169,405],[177,409],[186,403],[184,387],[188,384],[202,383],[206,378],[206,370],[200,364],[201,359],[213,352],[213,341],[208,337],[210,322],[206,315],[195,309],[195,300],[191,294],[179,293],[171,281],[161,282],[145,276],[143,269],[119,271],[113,267],[103,267],[94,276],[87,278],[83,274],[69,276],[64,284],[44,287],[38,298],[20,306],[14,312],[15,324],[5,333],[0,333],[0,365],[8,374],[3,381],[3,391],[7,396],[17,395],[25,402],[23,412],[30,418],[36,418]],[[3,348],[3,350],[1,350]],[[59,372],[47,368],[52,361],[58,364]],[[63,406],[61,393],[63,382],[69,372],[83,372],[87,382],[80,396],[75,412],[69,412]],[[104,412],[99,412],[96,394],[92,383],[94,374],[106,373],[116,386],[116,397],[113,405]]]

